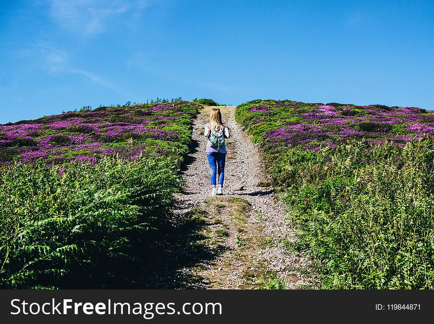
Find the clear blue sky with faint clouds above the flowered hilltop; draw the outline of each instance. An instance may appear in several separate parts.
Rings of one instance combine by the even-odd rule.
[[[434,109],[434,1],[0,2],[0,123],[212,98]]]

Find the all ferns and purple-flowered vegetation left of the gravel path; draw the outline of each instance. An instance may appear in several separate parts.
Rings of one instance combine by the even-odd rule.
[[[0,287],[131,284],[164,241],[199,108],[101,107],[0,125]]]

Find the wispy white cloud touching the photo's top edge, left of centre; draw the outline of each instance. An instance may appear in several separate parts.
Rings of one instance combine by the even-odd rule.
[[[51,0],[50,16],[63,29],[82,35],[104,32],[115,17],[142,10],[148,0]]]

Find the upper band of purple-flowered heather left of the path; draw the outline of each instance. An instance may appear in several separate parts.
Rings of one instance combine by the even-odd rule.
[[[99,155],[183,154],[199,106],[186,101],[66,112],[0,125],[0,164],[87,161]]]

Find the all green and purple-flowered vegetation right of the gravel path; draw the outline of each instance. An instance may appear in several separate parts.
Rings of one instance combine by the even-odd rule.
[[[434,288],[433,112],[255,100],[236,118],[323,288]]]

